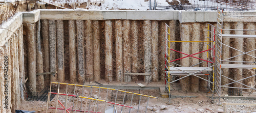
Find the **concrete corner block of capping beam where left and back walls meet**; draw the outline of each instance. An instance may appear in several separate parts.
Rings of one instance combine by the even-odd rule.
[[[23,23],[35,23],[40,20],[40,10],[23,12]]]

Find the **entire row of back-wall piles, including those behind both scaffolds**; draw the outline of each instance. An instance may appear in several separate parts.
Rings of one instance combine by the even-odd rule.
[[[29,77],[31,86],[33,86],[31,87],[32,89],[35,88],[36,84],[43,86],[44,82],[35,81],[36,79],[43,81],[44,78],[46,80],[50,78],[50,81],[58,82],[69,80],[71,83],[82,82],[83,80],[98,81],[99,79],[120,82],[127,80],[130,82],[138,80],[138,76],[125,76],[123,73],[139,72],[151,73],[151,76],[149,76],[150,81],[163,80],[165,23],[171,26],[171,40],[207,40],[206,23],[199,22],[181,24],[176,20],[41,20],[41,22],[37,23],[38,25],[34,26],[36,31],[34,31],[33,27],[28,31],[35,32],[31,33],[31,36],[37,34],[36,37],[41,37],[35,40],[37,43],[41,43],[42,47],[36,43],[27,44],[28,75],[34,76],[35,73],[52,71],[58,71],[58,73],[52,74],[50,77],[48,75]],[[41,26],[39,23],[41,23]],[[224,22],[224,27],[229,26],[236,27],[236,29],[242,29],[243,27],[253,29],[255,27],[254,23],[241,22],[241,24],[238,23],[236,25],[233,22]],[[39,33],[40,31],[41,33]],[[253,34],[254,32],[243,33]],[[254,39],[244,39],[241,40],[242,42],[237,40],[241,39],[230,38],[224,39],[223,42],[245,51],[249,49],[248,44],[250,48],[255,48],[255,44],[253,44],[255,42],[252,41]],[[243,48],[242,44],[238,44],[239,42],[248,47]],[[206,42],[176,42],[171,46],[176,50],[189,54],[207,49]],[[33,51],[33,54],[30,54],[29,51]],[[223,47],[222,59],[238,53],[238,51]],[[172,59],[185,56],[174,51],[171,51],[171,54]],[[206,53],[195,56],[207,59]],[[30,57],[33,57],[33,60],[35,58],[38,59],[36,60],[36,70],[35,64],[32,63],[33,60]],[[240,57],[246,61],[251,60],[246,55]],[[241,58],[235,60],[239,61]],[[189,67],[199,62],[195,58],[185,58],[176,63]],[[40,64],[44,65],[43,69]],[[206,62],[204,62],[196,67],[206,67],[206,65]],[[245,76],[255,73],[253,70],[237,69],[233,72],[238,73],[230,74],[230,70],[232,69],[223,69],[223,73],[227,73],[224,75],[236,80],[243,78],[242,73]],[[203,76],[203,78],[207,79],[206,76]],[[143,79],[147,81],[148,78],[144,77]],[[253,87],[253,79],[254,77],[248,79],[248,82],[245,83]],[[227,81],[223,79],[222,83]],[[181,80],[181,87],[184,91],[206,91],[207,81],[190,76]],[[40,87],[37,88],[41,89]]]

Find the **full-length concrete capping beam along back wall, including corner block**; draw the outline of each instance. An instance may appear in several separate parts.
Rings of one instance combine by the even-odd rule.
[[[227,14],[228,12],[224,12]],[[256,15],[254,11],[242,12],[242,15]],[[35,10],[23,13],[23,22],[34,23],[39,19],[53,20],[179,20],[187,22],[216,22],[216,11],[99,11],[99,10]],[[251,17],[225,17],[224,21],[255,21]]]

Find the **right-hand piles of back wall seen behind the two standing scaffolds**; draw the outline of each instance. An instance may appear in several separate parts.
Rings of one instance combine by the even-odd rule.
[[[180,24],[180,33],[181,39],[172,39],[171,36],[171,40],[182,40],[182,41],[188,41],[188,40],[207,40],[207,28],[206,28],[206,23],[182,23]],[[213,23],[216,24],[216,23]],[[224,28],[223,29],[238,29],[238,30],[254,30],[255,29],[255,22],[224,22]],[[174,27],[171,26],[172,30],[175,30]],[[173,33],[171,32],[171,35]],[[224,31],[223,34],[238,34],[238,35],[255,35],[254,31]],[[173,34],[175,35],[175,34]],[[174,36],[173,36],[174,37]],[[255,47],[255,39],[250,39],[250,38],[223,38],[223,43],[226,45],[229,45],[231,47],[234,47],[238,50],[247,52],[247,51],[251,51],[256,49]],[[188,54],[193,54],[193,53],[197,53],[203,50],[207,49],[207,45],[206,42],[179,42],[179,43],[175,43],[174,45],[171,45],[172,48],[176,48],[176,50],[179,50],[179,48],[177,48],[177,45],[180,46],[180,50],[181,52],[184,53],[188,53]],[[230,58],[231,56],[236,56],[241,54],[242,52],[238,51],[238,50],[234,50],[231,49],[227,46],[222,45],[222,60]],[[170,54],[176,54],[173,55],[171,57],[171,59],[176,59],[177,58],[182,58],[184,56],[186,56],[185,54],[180,54],[180,56],[175,53],[175,51],[171,51]],[[253,52],[249,52],[250,55],[255,56],[255,51]],[[207,59],[207,54],[206,53],[200,53],[200,54],[196,54],[194,55],[197,58],[201,58],[201,59]],[[249,55],[240,55],[237,56],[236,58],[230,59],[231,61],[247,61],[247,62],[253,62],[255,59]],[[189,67],[192,65],[195,65],[197,63],[199,63],[201,61],[199,61],[198,59],[195,58],[185,58],[182,59],[178,62],[176,62],[177,64],[180,64],[184,67]],[[224,62],[229,64],[230,62]],[[230,63],[231,64],[231,63]],[[253,63],[233,63],[233,64],[250,64],[250,65],[254,65]],[[175,65],[173,65],[175,66]],[[206,62],[203,62],[200,65],[196,65],[194,67],[207,67]],[[234,80],[240,80],[246,77],[249,77],[251,75],[255,74],[255,70],[254,69],[228,69],[228,68],[222,68],[222,74],[224,76],[227,76],[231,79]],[[204,79],[207,79],[206,76],[201,76]],[[221,84],[227,84],[230,82],[233,82],[230,79],[221,78]],[[240,81],[241,83],[246,84],[247,86],[250,87],[254,87],[255,86],[255,77],[250,77],[248,79],[245,79],[243,81]],[[190,77],[186,77],[184,79],[181,79],[181,87],[183,91],[191,91],[191,92],[198,92],[198,91],[206,91],[207,90],[207,81],[200,79],[198,77],[195,76],[190,76]],[[242,88],[242,84],[240,83],[233,83],[230,84],[229,87],[238,87],[238,88]],[[246,87],[244,87],[246,88]],[[227,91],[228,89],[224,89],[225,91]],[[251,91],[249,89],[245,90],[245,91]]]

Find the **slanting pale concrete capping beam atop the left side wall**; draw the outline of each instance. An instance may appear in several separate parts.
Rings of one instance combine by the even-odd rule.
[[[12,19],[4,23],[0,29],[0,47],[4,46],[5,43],[10,39],[10,37],[15,34],[17,29],[22,26],[22,13],[15,14]]]

